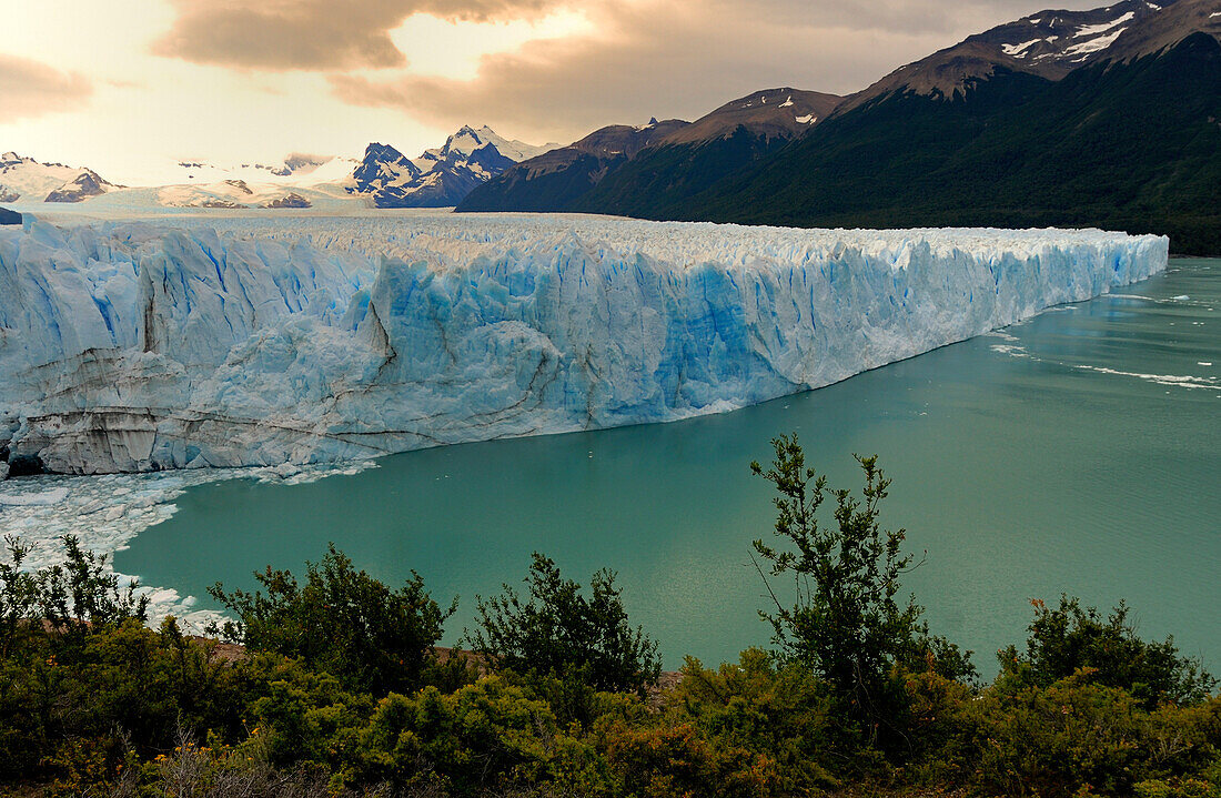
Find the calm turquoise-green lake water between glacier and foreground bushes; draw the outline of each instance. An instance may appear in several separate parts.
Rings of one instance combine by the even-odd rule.
[[[768,627],[750,543],[772,534],[750,475],[796,431],[833,487],[860,487],[852,453],[894,480],[883,521],[923,564],[906,580],[933,630],[993,652],[1024,638],[1032,598],[1125,598],[1142,633],[1221,667],[1221,261],[999,334],[736,412],[387,458],[309,484],[189,488],[168,521],[116,555],[147,584],[204,595],[300,569],[333,541],[396,582],[460,595],[519,583],[540,550],[585,582],[619,572],[634,622],[667,667],[719,663]],[[201,600],[206,605],[206,600]]]

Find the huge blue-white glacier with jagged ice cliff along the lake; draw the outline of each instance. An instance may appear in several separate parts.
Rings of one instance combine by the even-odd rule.
[[[592,216],[0,228],[0,477],[276,466],[818,388],[1166,267],[1101,231]]]

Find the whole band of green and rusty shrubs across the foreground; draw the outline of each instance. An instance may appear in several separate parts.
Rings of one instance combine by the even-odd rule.
[[[524,594],[477,603],[469,652],[436,649],[420,577],[392,589],[332,547],[304,580],[214,595],[227,643],[184,636],[105,561],[0,564],[0,786],[45,796],[810,796],[1221,798],[1221,697],[1172,641],[1034,602],[1029,637],[979,683],[929,633],[889,482],[830,491],[795,438],[753,471],[777,488],[755,543],[772,650],[657,688],[656,644],[613,572],[591,589],[535,555]],[[819,515],[834,504],[829,521]],[[774,581],[773,581],[774,580]],[[795,589],[791,595],[779,586]],[[241,645],[233,645],[239,643]],[[664,681],[664,680],[663,680]],[[670,680],[673,681],[673,680]]]

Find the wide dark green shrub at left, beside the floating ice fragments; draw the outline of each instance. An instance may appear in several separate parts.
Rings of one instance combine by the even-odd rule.
[[[442,610],[414,571],[392,591],[357,571],[333,543],[305,572],[304,586],[270,565],[255,572],[266,594],[226,593],[217,582],[209,593],[238,620],[209,631],[254,650],[300,658],[377,696],[418,687],[457,600]]]

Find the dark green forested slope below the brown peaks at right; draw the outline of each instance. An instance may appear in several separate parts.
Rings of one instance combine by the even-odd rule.
[[[1221,44],[1059,82],[998,68],[962,95],[836,115],[673,218],[818,227],[1096,226],[1221,253]],[[647,214],[643,214],[647,215]]]

